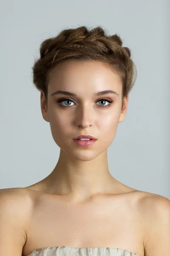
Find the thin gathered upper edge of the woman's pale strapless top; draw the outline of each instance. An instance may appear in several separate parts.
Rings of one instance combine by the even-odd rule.
[[[43,251],[43,250],[50,250],[50,249],[58,249],[58,248],[65,248],[65,249],[70,249],[70,250],[78,250],[78,249],[90,249],[90,250],[96,250],[96,249],[101,249],[101,250],[105,250],[105,249],[109,249],[109,250],[113,250],[113,251],[123,251],[123,252],[127,252],[127,253],[130,253],[132,254],[132,256],[139,256],[139,254],[137,253],[132,253],[128,250],[125,250],[125,249],[122,249],[122,248],[112,248],[112,247],[70,247],[70,246],[53,246],[53,247],[42,247],[38,250],[33,250],[30,254],[28,254],[27,256],[31,256],[31,255],[34,255],[34,253],[36,252],[40,252],[40,251]],[[36,255],[36,254],[35,254]]]

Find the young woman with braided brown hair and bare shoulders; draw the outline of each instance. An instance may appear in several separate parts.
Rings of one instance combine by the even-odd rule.
[[[170,254],[169,199],[125,186],[108,169],[135,80],[130,49],[100,26],[42,42],[33,81],[59,160],[40,182],[0,190],[1,256]]]

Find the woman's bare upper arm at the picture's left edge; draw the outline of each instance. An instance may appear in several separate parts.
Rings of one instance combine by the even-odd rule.
[[[22,256],[26,242],[23,197],[18,190],[0,189],[0,256]]]

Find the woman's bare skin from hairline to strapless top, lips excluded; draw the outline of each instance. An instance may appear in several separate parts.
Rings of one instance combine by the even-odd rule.
[[[77,96],[51,95],[57,90]],[[116,93],[93,96],[103,90]],[[127,113],[129,98],[121,109],[121,94],[119,76],[100,61],[59,64],[48,84],[47,105],[40,95],[59,160],[38,183],[0,189],[0,255],[27,256],[65,245],[120,248],[139,256],[170,253],[169,199],[125,186],[108,169],[108,147]],[[73,138],[80,134],[96,137],[96,143],[76,145]]]

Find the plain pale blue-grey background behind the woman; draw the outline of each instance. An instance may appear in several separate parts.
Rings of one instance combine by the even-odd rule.
[[[138,70],[127,116],[108,148],[111,175],[170,199],[168,0],[1,0],[0,189],[29,186],[54,169],[59,147],[42,118],[31,67],[61,29],[101,25],[132,50]]]

